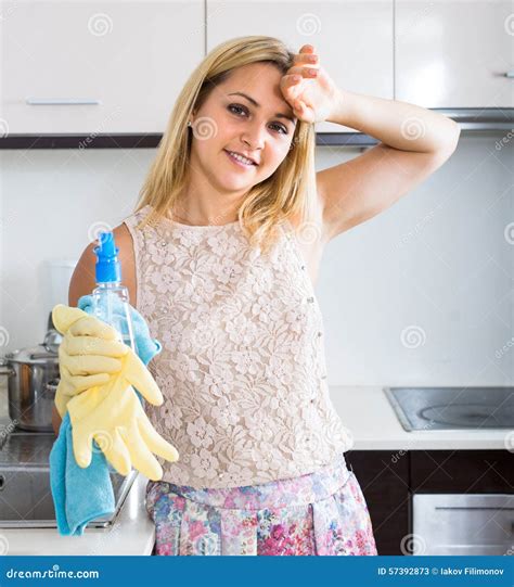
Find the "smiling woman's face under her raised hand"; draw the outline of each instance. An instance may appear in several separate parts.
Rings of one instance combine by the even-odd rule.
[[[296,118],[269,63],[237,67],[193,115],[191,171],[220,192],[246,192],[270,177],[288,153]],[[243,95],[245,94],[245,95]],[[229,152],[254,161],[234,161]]]

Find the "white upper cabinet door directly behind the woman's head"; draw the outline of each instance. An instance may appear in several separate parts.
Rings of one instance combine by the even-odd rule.
[[[245,35],[269,35],[297,53],[313,44],[337,86],[393,98],[393,0],[207,0],[207,50]],[[349,127],[319,123],[318,132]]]

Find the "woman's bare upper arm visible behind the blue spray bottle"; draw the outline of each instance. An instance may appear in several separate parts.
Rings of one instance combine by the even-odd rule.
[[[129,290],[130,304],[136,307],[138,292],[132,235],[125,222],[114,228],[113,233],[116,246],[119,248],[118,258],[121,264],[123,283]],[[77,306],[79,298],[82,295],[89,295],[97,286],[97,255],[94,254],[94,247],[97,245],[98,243],[95,241],[89,243],[75,267],[75,271],[69,282],[69,306]]]

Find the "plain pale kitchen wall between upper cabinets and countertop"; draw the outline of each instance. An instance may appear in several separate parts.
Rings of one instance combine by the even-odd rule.
[[[513,143],[463,132],[421,187],[327,245],[317,294],[330,385],[514,383]],[[317,165],[358,154],[318,148]],[[42,341],[67,303],[47,263],[77,259],[98,224],[129,215],[154,155],[0,152],[1,353]]]

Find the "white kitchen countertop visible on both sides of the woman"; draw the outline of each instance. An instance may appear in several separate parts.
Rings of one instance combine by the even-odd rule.
[[[0,398],[5,397],[1,392],[0,388]],[[331,386],[330,395],[354,437],[354,450],[505,449],[509,431],[407,432],[382,387]],[[56,528],[2,528],[8,545],[5,553],[150,554],[155,528],[144,508],[146,483],[139,474],[111,528],[86,529],[83,536],[69,537],[61,536]]]

